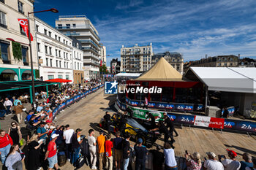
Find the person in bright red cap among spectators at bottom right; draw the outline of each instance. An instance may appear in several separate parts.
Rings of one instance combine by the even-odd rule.
[[[241,163],[239,161],[236,161],[236,152],[233,150],[228,150],[227,149],[227,155],[230,159],[227,159],[225,157],[225,155],[218,155],[219,157],[219,161],[222,160],[222,158],[224,158],[224,160],[222,160],[222,164],[224,166],[225,170],[239,170]]]

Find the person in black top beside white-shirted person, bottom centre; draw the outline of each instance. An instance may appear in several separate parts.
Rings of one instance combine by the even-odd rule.
[[[163,152],[160,152],[161,147],[157,145],[157,150],[149,150],[152,153],[153,159],[153,170],[162,170],[162,163],[165,161],[165,156]]]

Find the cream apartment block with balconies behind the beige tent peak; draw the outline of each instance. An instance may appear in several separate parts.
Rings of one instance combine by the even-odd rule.
[[[146,72],[151,68],[152,43],[146,46],[121,47],[121,72]]]

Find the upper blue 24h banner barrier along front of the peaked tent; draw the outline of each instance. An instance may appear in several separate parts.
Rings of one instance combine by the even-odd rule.
[[[132,107],[141,107],[143,105],[143,102],[131,100],[127,97],[125,98],[125,101]],[[167,109],[176,112],[204,112],[203,104],[178,104],[148,101],[148,108]]]

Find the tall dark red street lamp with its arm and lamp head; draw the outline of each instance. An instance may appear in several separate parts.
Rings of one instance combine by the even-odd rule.
[[[28,12],[28,31],[29,31],[29,48],[30,48],[30,65],[31,65],[31,80],[32,80],[32,101],[33,101],[33,107],[35,109],[36,105],[35,105],[35,96],[34,96],[34,71],[33,71],[33,57],[32,57],[32,48],[31,48],[31,36],[30,36],[30,24],[29,24],[29,15],[30,14],[34,14],[34,13],[39,13],[39,12],[48,12],[48,11],[51,11],[51,12],[54,12],[54,13],[58,13],[59,11],[55,8],[51,8],[51,9],[48,9],[48,10],[42,10],[42,11],[37,11],[37,12]]]

